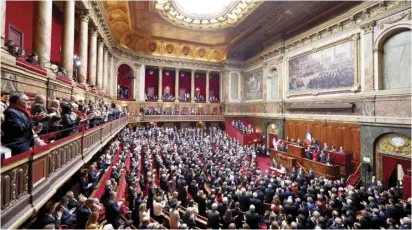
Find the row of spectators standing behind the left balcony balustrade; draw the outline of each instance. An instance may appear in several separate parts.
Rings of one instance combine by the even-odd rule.
[[[39,137],[57,132],[54,140],[71,136],[82,129],[91,128],[124,116],[123,110],[114,103],[103,100],[51,100],[46,107],[46,97],[36,95],[34,103],[22,92],[2,92],[1,131],[2,145],[11,149],[13,156],[34,146],[46,145]]]

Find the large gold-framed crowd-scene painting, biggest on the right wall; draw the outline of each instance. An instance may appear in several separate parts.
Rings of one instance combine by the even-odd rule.
[[[289,59],[287,97],[359,90],[359,34]]]

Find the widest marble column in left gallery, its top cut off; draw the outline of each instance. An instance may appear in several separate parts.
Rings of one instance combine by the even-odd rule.
[[[36,6],[33,53],[39,55],[40,64],[43,65],[50,62],[53,1],[38,1]]]

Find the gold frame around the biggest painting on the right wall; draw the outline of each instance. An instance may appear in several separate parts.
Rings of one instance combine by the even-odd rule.
[[[296,96],[310,96],[310,95],[312,95],[312,96],[317,96],[317,95],[320,95],[320,94],[336,94],[336,93],[343,93],[343,92],[357,92],[357,91],[359,91],[360,90],[360,81],[359,81],[359,76],[360,76],[360,69],[359,69],[359,39],[360,39],[360,34],[359,33],[356,33],[356,34],[352,34],[352,35],[350,35],[350,36],[348,36],[348,37],[346,37],[346,38],[343,38],[343,39],[340,39],[340,40],[337,40],[337,41],[335,41],[335,42],[332,42],[332,43],[329,43],[329,44],[327,44],[327,45],[324,45],[324,46],[320,46],[320,47],[316,47],[316,48],[313,48],[312,50],[309,50],[309,51],[306,51],[306,52],[303,52],[303,53],[300,53],[300,54],[298,54],[298,55],[295,55],[295,56],[292,56],[292,57],[290,57],[290,58],[288,58],[286,61],[287,61],[287,68],[286,68],[286,76],[287,76],[287,78],[286,78],[286,80],[287,80],[287,84],[288,84],[288,86],[287,86],[287,90],[286,90],[286,97],[287,98],[289,98],[289,97],[296,97]],[[354,63],[353,63],[353,65],[354,65],[354,76],[353,76],[353,85],[351,86],[351,87],[342,87],[342,88],[331,88],[331,89],[322,89],[322,90],[303,90],[302,92],[290,92],[290,86],[289,86],[289,83],[290,83],[290,74],[289,74],[289,71],[290,71],[290,61],[291,60],[293,60],[293,59],[295,59],[295,58],[298,58],[298,57],[302,57],[302,56],[305,56],[305,55],[309,55],[309,54],[313,54],[313,53],[316,53],[316,52],[319,52],[319,51],[322,51],[322,50],[325,50],[325,49],[329,49],[329,48],[331,48],[331,47],[334,47],[334,46],[337,46],[337,45],[340,45],[340,44],[344,44],[344,43],[346,43],[346,42],[353,42],[353,49],[354,49],[354,52],[353,52],[353,61],[354,61]]]

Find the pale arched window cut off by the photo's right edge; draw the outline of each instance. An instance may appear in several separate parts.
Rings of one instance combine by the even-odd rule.
[[[411,88],[411,31],[389,37],[382,46],[381,89]]]

